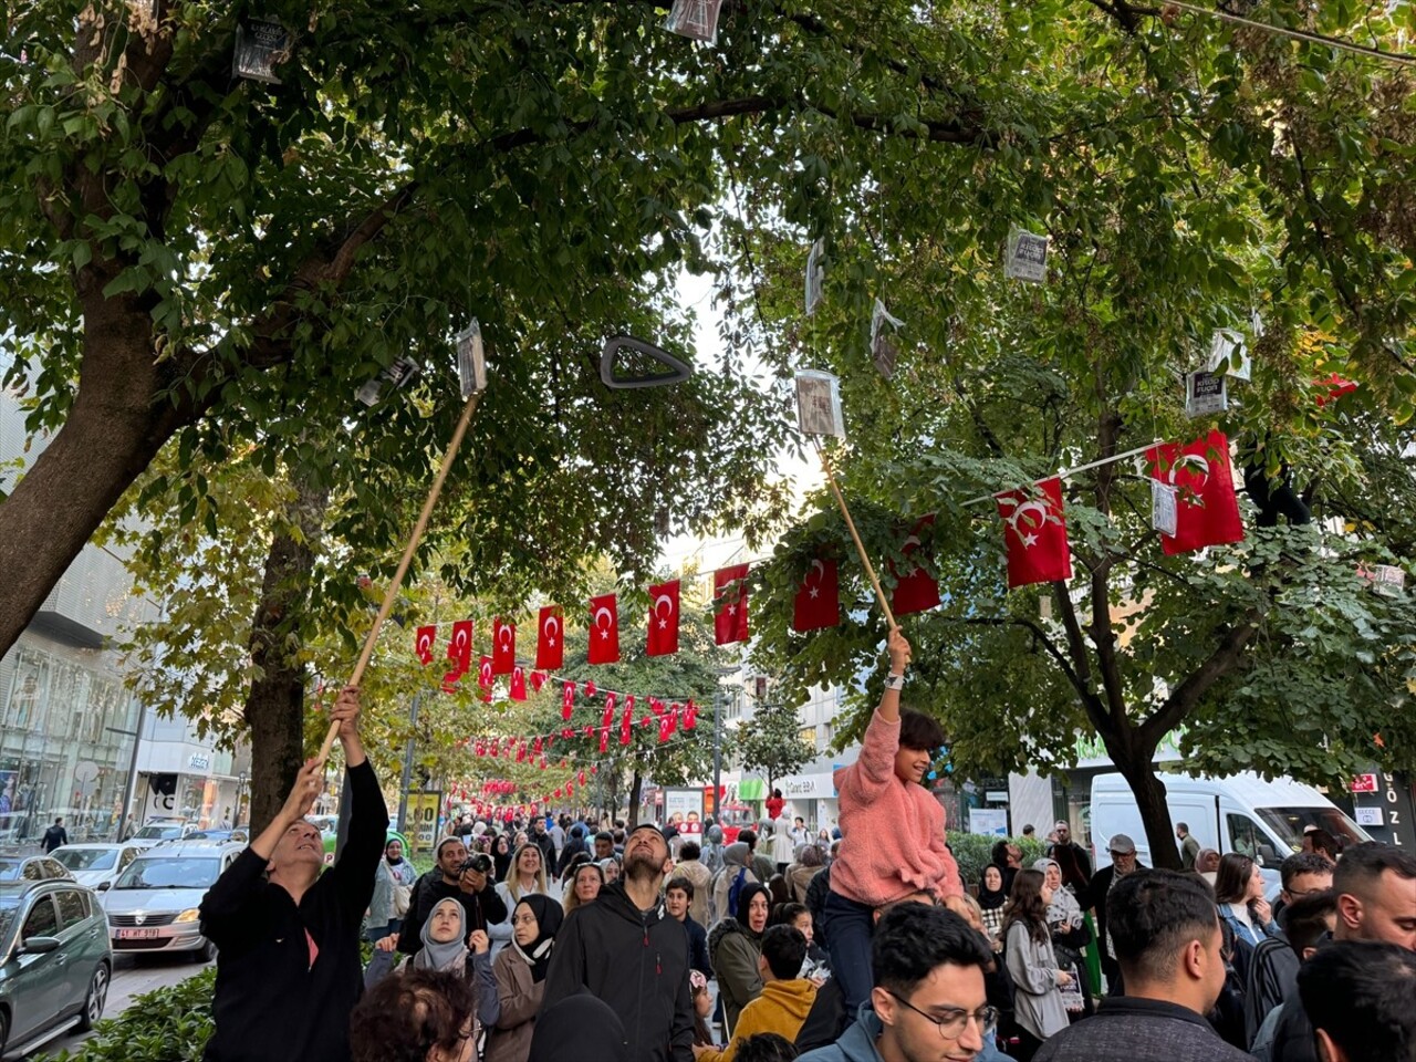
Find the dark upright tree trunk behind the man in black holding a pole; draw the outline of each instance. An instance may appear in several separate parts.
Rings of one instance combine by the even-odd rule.
[[[314,549],[329,490],[296,476],[296,498],[266,554],[261,602],[251,624],[251,658],[259,677],[246,695],[251,726],[251,835],[261,833],[285,803],[304,760],[304,666],[300,663],[304,610]]]

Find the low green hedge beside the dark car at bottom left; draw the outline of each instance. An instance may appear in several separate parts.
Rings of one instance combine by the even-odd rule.
[[[200,1062],[215,1021],[211,997],[217,987],[215,967],[178,984],[135,995],[133,1004],[116,1018],[93,1027],[93,1035],[78,1051],[62,1051],[55,1062]]]

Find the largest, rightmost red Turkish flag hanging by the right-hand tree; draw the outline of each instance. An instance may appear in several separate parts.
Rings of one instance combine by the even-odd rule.
[[[1167,556],[1243,539],[1239,498],[1229,467],[1229,439],[1212,430],[1188,446],[1165,443],[1146,452],[1150,476],[1175,487],[1175,535],[1161,535]]]

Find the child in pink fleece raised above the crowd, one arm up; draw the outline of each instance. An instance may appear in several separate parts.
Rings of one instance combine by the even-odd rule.
[[[892,627],[885,694],[865,728],[860,758],[835,772],[841,851],[831,864],[821,922],[851,1020],[874,987],[877,910],[918,893],[935,899],[963,893],[959,867],[944,845],[944,809],[922,784],[944,733],[927,715],[899,707],[909,653],[909,641]]]

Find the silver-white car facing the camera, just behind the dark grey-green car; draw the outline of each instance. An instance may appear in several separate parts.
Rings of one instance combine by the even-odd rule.
[[[217,841],[167,841],[143,850],[103,893],[113,952],[195,952],[201,961],[215,959],[217,946],[201,935],[197,908],[244,850]]]

